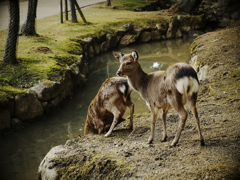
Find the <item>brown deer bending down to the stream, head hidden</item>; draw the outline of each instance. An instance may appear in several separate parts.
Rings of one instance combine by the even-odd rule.
[[[88,107],[84,135],[108,131],[104,135],[108,137],[114,127],[125,120],[122,117],[127,106],[130,108],[129,128],[132,129],[134,104],[131,102],[131,91],[126,78],[107,79]]]

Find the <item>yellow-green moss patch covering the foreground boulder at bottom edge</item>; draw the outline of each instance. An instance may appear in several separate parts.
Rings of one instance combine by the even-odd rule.
[[[129,169],[111,157],[102,154],[74,155],[66,160],[56,160],[60,179],[121,179],[129,176]]]

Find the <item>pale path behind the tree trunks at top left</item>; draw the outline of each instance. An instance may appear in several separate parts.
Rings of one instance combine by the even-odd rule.
[[[103,0],[77,0],[80,7],[86,7]],[[42,19],[48,16],[58,14],[60,11],[59,0],[39,0],[37,7],[37,19]],[[23,24],[27,17],[28,1],[20,2],[20,24]],[[8,28],[9,12],[8,4],[5,1],[0,1],[0,30]]]

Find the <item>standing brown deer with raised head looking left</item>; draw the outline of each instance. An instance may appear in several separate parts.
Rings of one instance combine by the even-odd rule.
[[[168,110],[174,108],[180,116],[178,130],[171,143],[171,146],[175,146],[179,141],[188,115],[184,105],[188,105],[197,122],[201,145],[204,145],[196,109],[199,81],[197,73],[190,65],[177,63],[169,66],[166,71],[156,71],[147,74],[138,63],[139,55],[136,51],[130,54],[113,51],[113,55],[120,62],[117,75],[127,76],[128,83],[139,92],[152,112],[151,134],[148,143],[152,143],[154,139],[155,122],[159,109],[163,110],[162,141],[166,141],[166,116]]]

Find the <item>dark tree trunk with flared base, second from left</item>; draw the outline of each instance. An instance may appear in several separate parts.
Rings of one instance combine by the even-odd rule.
[[[22,26],[21,35],[24,35],[24,36],[36,36],[37,35],[37,33],[35,31],[37,3],[38,3],[38,0],[29,0],[28,1],[27,19]]]

